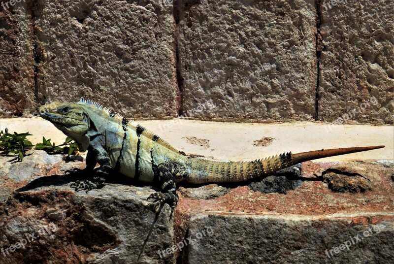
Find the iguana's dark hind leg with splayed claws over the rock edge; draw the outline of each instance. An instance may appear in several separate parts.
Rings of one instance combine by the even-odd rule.
[[[173,166],[159,164],[155,170],[155,176],[157,176],[157,180],[159,181],[161,192],[153,193],[148,197],[148,199],[154,200],[149,204],[149,207],[157,210],[160,205],[168,203],[171,209],[173,209],[178,203]]]

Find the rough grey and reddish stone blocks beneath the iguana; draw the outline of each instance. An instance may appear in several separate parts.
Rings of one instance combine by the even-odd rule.
[[[33,165],[29,157],[37,163]],[[29,157],[18,166],[35,166],[42,174],[55,175],[22,179],[0,173],[1,194],[8,194],[0,200],[0,249],[16,245],[26,235],[39,237],[7,258],[0,253],[0,264],[136,263],[154,218],[146,201],[152,189],[130,186],[125,177],[111,175],[104,188],[76,193],[69,185],[77,175],[63,174],[71,167],[82,168],[82,162],[66,163],[62,156],[42,151]],[[8,159],[0,157],[2,171],[15,165],[4,163]],[[140,263],[330,263],[326,249],[338,247],[350,236],[363,236],[369,228],[373,234],[350,251],[336,254],[335,263],[391,261],[393,165],[341,164],[343,170],[373,172],[367,177],[379,188],[356,194],[331,192],[321,177],[314,176],[334,165],[304,163],[302,177],[295,179],[303,184],[286,195],[254,192],[248,186],[181,187],[172,220],[168,221],[170,210],[165,206]],[[379,232],[373,228],[377,225]],[[40,232],[45,227],[49,231]],[[202,231],[205,235],[198,234]],[[175,245],[187,238],[193,243],[179,250]],[[174,254],[161,259],[157,251],[172,246]]]

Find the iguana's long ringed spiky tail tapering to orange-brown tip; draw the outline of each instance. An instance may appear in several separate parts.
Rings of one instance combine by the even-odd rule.
[[[242,182],[273,174],[281,169],[301,162],[350,154],[355,152],[384,148],[385,146],[354,147],[308,151],[292,154],[291,152],[254,162],[220,162],[207,159],[195,159],[187,181],[190,183],[230,183]]]

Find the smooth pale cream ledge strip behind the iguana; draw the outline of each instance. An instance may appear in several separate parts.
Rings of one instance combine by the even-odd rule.
[[[254,160],[292,151],[293,153],[339,147],[385,145],[383,149],[337,156],[321,161],[393,160],[394,126],[329,125],[314,122],[286,124],[222,123],[184,119],[138,121],[174,147],[187,154],[220,160]],[[38,117],[0,119],[0,130],[30,132],[33,143],[42,136],[62,143],[65,135]],[[190,138],[189,140],[187,139]],[[193,140],[197,139],[205,140]],[[254,146],[255,140],[274,138],[268,146]],[[193,141],[194,143],[189,143]],[[201,145],[198,143],[201,142]]]

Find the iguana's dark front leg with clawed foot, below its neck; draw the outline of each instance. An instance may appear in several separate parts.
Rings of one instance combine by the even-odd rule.
[[[93,168],[99,163],[100,167],[96,170]],[[86,157],[86,168],[84,171],[92,171],[94,176],[92,180],[79,180],[71,184],[71,187],[75,187],[75,191],[86,190],[89,192],[92,189],[101,189],[104,187],[105,178],[108,176],[111,170],[111,163],[109,160],[108,153],[100,144],[91,145],[88,149],[88,155]]]

